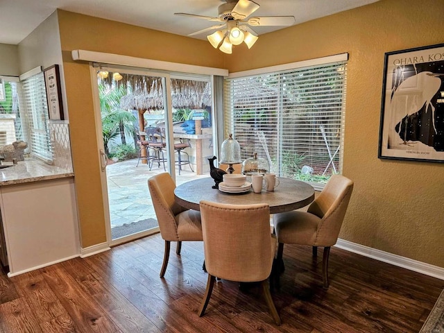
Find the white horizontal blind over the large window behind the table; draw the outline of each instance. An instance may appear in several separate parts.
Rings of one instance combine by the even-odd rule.
[[[280,176],[322,188],[341,173],[346,61],[225,80],[225,137]]]

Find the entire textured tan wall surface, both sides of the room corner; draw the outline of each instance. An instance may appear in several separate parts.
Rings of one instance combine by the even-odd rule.
[[[241,71],[348,52],[343,173],[355,191],[341,238],[444,267],[444,164],[379,160],[384,53],[444,42],[444,0],[381,0],[259,37],[209,43],[59,12],[83,247],[105,241],[89,71],[72,49]]]

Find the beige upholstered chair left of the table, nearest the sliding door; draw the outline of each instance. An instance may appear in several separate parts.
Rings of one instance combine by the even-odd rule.
[[[164,172],[148,179],[151,200],[159,223],[160,234],[165,241],[164,262],[160,278],[167,270],[171,241],[177,241],[176,253],[180,255],[182,241],[202,241],[200,212],[187,210],[174,200],[176,185],[169,173]]]

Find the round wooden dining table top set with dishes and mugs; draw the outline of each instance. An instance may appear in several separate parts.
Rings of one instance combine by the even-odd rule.
[[[254,193],[250,189],[248,192],[232,194],[213,189],[214,180],[210,177],[199,178],[176,187],[174,196],[176,203],[191,210],[200,210],[200,200],[209,200],[232,205],[268,203],[271,214],[297,210],[314,200],[314,188],[306,182],[290,178],[279,178],[279,182],[274,191],[262,189],[261,193]]]

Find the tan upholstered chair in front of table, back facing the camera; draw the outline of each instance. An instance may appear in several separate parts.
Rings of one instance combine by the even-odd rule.
[[[216,277],[236,282],[261,282],[275,323],[280,317],[271,298],[268,278],[276,250],[267,204],[224,205],[200,201],[207,289],[198,311],[203,316]]]

